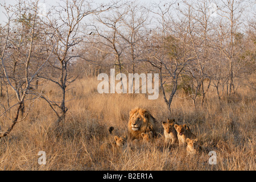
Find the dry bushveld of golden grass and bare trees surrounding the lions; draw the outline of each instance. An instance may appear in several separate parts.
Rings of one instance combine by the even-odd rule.
[[[255,170],[255,5],[1,2],[0,170]],[[134,74],[134,90],[147,76],[147,93],[140,82],[140,93],[100,94],[98,76],[113,71],[122,88],[123,75]],[[104,89],[112,85],[104,81]],[[155,88],[159,96],[150,100]],[[158,138],[137,146],[127,140],[122,154],[101,150],[127,135],[134,107],[155,117]],[[208,152],[192,157],[165,144],[167,118],[187,124],[217,163]],[[38,163],[40,151],[46,164]]]

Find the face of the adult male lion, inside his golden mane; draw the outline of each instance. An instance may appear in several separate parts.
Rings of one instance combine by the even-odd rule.
[[[146,116],[146,111],[145,112],[135,112],[135,113],[130,113],[130,125],[131,129],[133,131],[137,131],[141,128],[143,124],[147,123],[147,116]]]

